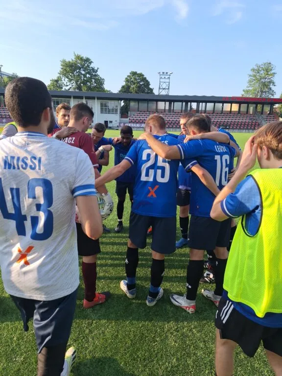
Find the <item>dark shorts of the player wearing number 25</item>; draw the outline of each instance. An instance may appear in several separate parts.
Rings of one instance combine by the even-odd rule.
[[[151,249],[169,255],[175,252],[176,217],[162,218],[130,213],[129,239],[138,248],[147,245],[147,231],[152,226]]]

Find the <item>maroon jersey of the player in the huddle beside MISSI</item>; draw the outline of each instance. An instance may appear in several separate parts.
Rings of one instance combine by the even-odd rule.
[[[48,137],[52,137],[55,133],[57,133],[60,129],[54,129],[52,133],[48,135]],[[66,137],[65,139],[62,139],[63,142],[78,147],[79,149],[82,149],[90,158],[93,167],[98,168],[99,164],[97,161],[96,154],[93,149],[93,142],[91,137],[84,132],[76,132],[70,135],[69,137]]]

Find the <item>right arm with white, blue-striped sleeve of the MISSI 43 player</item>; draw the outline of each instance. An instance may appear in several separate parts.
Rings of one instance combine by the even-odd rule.
[[[82,150],[77,155],[72,195],[76,199],[83,231],[90,238],[98,239],[103,233],[103,227],[96,198],[94,168]]]

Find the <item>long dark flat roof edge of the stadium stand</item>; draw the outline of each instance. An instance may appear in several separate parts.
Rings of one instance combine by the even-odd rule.
[[[0,94],[4,88],[0,88]],[[52,97],[69,98],[95,98],[97,99],[130,99],[130,100],[158,100],[158,101],[179,101],[179,102],[235,102],[235,103],[282,103],[282,98],[250,98],[241,96],[207,96],[207,95],[156,95],[156,94],[122,94],[103,92],[71,92],[50,90]]]

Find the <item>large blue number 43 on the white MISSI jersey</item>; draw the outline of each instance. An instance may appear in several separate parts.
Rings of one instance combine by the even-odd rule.
[[[36,188],[41,188],[42,194],[40,197],[36,196]],[[16,230],[18,235],[26,236],[25,224],[27,216],[23,214],[21,208],[21,192],[20,188],[10,188],[11,200],[14,207],[14,212],[10,213],[7,208],[7,203],[4,195],[2,179],[0,178],[0,211],[4,219],[10,219],[16,222]],[[53,205],[53,187],[47,179],[30,179],[27,183],[27,197],[22,197],[22,201],[28,199],[43,200],[41,204],[35,204],[35,209],[44,216],[43,231],[38,233],[38,226],[41,220],[39,215],[31,215],[31,234],[30,238],[33,240],[47,240],[53,233],[53,213],[49,208]]]

